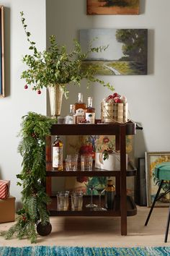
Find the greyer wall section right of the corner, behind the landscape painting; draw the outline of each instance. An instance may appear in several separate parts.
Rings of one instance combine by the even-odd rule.
[[[170,151],[169,135],[169,9],[170,1],[140,1],[140,15],[86,15],[86,1],[47,1],[47,35],[55,34],[58,43],[71,45],[82,28],[148,28],[148,75],[104,76],[113,82],[117,93],[128,98],[131,119],[143,126],[135,136],[135,155],[144,151]],[[85,100],[86,86],[82,84]],[[101,85],[91,87],[97,117],[100,102],[109,94]],[[79,90],[70,88],[70,98],[63,104],[63,115],[76,101]]]

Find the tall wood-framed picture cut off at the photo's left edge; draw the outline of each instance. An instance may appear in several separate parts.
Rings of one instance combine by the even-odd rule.
[[[4,7],[0,6],[0,97],[4,97]]]

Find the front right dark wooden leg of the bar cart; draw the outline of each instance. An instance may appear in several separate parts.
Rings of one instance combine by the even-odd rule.
[[[120,212],[121,235],[127,235],[126,125],[120,125]]]

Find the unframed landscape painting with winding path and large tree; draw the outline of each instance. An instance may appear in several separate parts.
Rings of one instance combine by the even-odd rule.
[[[147,29],[85,29],[79,31],[79,40],[84,52],[107,46],[105,51],[90,53],[82,69],[91,67],[99,75],[147,74]]]

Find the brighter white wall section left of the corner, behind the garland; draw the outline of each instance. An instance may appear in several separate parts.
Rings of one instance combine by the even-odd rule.
[[[23,11],[32,40],[37,47],[46,47],[45,0],[1,0],[5,15],[5,90],[0,98],[0,179],[11,180],[11,194],[20,200],[21,187],[17,186],[16,174],[21,171],[22,158],[17,153],[22,116],[28,111],[46,114],[46,93],[41,95],[24,90],[20,79],[24,64],[22,56],[29,52],[26,35],[20,21]]]

